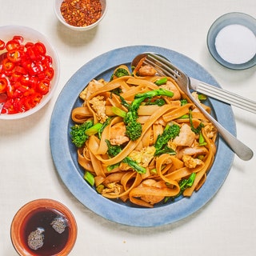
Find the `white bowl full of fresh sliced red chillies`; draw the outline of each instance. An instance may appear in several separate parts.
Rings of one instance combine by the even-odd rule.
[[[46,37],[27,26],[0,26],[0,119],[42,109],[58,86],[58,55]],[[2,97],[1,97],[2,98]]]

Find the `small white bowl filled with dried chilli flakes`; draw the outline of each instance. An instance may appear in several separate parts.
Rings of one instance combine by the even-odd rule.
[[[106,0],[55,0],[55,14],[72,30],[94,28],[106,14]]]

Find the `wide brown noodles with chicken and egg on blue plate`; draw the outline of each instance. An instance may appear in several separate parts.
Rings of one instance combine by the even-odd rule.
[[[114,74],[119,68],[127,74],[119,78],[113,75],[110,82],[91,81],[80,94],[82,106],[72,111],[74,126],[89,120],[102,125],[108,122],[100,137],[92,134],[78,146],[79,165],[93,176],[95,189],[106,198],[153,207],[181,194],[190,197],[203,185],[214,161],[217,130],[172,78],[159,77],[149,66],[137,66],[133,75],[127,66],[119,66]],[[163,82],[159,85],[160,79]],[[127,113],[129,107],[124,102],[131,106],[138,97],[134,95],[160,88],[171,91],[172,97],[158,95],[140,103],[136,122],[142,132],[132,140],[116,108]],[[198,94],[194,97],[198,99]],[[154,104],[159,99],[163,100],[161,106]],[[202,106],[210,112],[209,106]],[[158,137],[170,126],[178,127],[179,133],[165,142],[159,153]],[[119,153],[111,155],[109,146],[118,147]],[[127,159],[145,172],[136,170]]]

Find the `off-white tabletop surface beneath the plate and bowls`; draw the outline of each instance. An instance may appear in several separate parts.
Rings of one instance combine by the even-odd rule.
[[[255,157],[235,156],[218,194],[189,218],[166,226],[122,226],[86,209],[58,177],[50,154],[50,116],[68,79],[92,58],[122,46],[152,45],[194,59],[226,90],[256,98],[256,67],[234,71],[210,56],[206,34],[222,14],[244,12],[256,17],[255,0],[109,0],[102,23],[89,32],[62,26],[50,0],[0,0],[0,26],[39,30],[58,51],[61,75],[54,98],[37,114],[17,121],[0,120],[0,255],[17,255],[10,241],[16,211],[36,198],[53,198],[70,208],[78,238],[70,255],[256,254]],[[256,116],[233,107],[237,136],[256,152]]]

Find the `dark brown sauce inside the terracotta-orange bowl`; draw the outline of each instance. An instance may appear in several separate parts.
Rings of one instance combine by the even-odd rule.
[[[53,223],[56,220],[61,220],[62,223],[65,223],[65,226],[62,226],[61,233],[58,232],[59,230],[54,229]],[[66,246],[70,235],[70,226],[68,226],[65,216],[58,210],[48,207],[38,208],[28,214],[22,224],[22,230],[22,243],[26,250],[32,255],[40,256],[58,254]],[[35,230],[40,230],[39,233],[42,232],[40,235],[43,238],[43,244],[38,249],[31,249],[29,246],[30,234]]]

